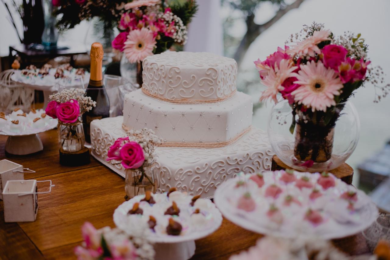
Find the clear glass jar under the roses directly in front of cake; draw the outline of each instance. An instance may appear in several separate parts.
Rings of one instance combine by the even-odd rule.
[[[153,169],[154,165],[126,170],[124,187],[128,199],[137,195],[143,195],[146,191],[156,192],[158,185]]]

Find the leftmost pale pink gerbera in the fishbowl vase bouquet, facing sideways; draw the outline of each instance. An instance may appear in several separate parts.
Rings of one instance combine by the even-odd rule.
[[[275,62],[275,69],[270,68],[268,75],[261,81],[267,89],[262,92],[260,102],[271,98],[275,103],[278,103],[276,96],[280,90],[284,90],[282,83],[292,76],[296,68],[296,66],[292,66],[290,60],[281,60],[279,66]]]

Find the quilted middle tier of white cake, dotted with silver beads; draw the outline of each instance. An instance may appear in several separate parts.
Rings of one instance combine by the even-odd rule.
[[[237,92],[218,103],[172,104],[136,90],[124,98],[123,124],[128,129],[152,129],[164,143],[226,145],[249,131],[251,97]]]

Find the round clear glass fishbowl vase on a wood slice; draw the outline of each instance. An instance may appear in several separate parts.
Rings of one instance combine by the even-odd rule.
[[[271,109],[268,138],[275,154],[287,166],[300,171],[330,171],[343,164],[359,140],[360,121],[350,101],[328,108],[294,115],[287,100]]]

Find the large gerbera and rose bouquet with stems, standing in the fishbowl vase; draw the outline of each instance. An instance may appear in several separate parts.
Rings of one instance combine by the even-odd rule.
[[[380,67],[367,67],[371,63],[368,46],[360,34],[346,32],[337,37],[322,24],[313,23],[291,34],[290,42],[293,44],[279,47],[266,60],[254,62],[267,87],[260,101],[278,103],[280,94],[288,102],[293,115],[289,130],[291,134],[295,131],[294,160],[312,166],[331,159],[336,122],[355,90],[369,81],[382,91],[375,92],[374,102],[378,102],[388,94],[390,85],[378,86],[384,83],[383,72]],[[277,119],[286,124],[285,116],[278,114]],[[352,140],[356,142],[350,153],[357,138]]]

